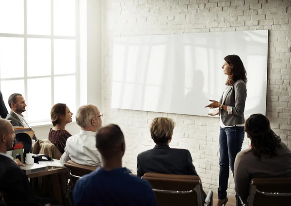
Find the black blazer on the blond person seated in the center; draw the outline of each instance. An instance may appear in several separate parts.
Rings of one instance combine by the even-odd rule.
[[[146,172],[198,175],[189,150],[171,149],[168,145],[156,145],[137,156],[137,175]]]

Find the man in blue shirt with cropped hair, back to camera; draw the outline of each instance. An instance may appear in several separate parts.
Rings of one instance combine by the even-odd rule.
[[[101,166],[82,176],[73,191],[75,206],[156,206],[151,185],[122,168],[125,142],[119,126],[110,124],[98,130],[96,147]]]

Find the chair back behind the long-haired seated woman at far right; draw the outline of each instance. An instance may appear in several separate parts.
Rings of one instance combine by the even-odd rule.
[[[291,177],[252,179],[247,205],[291,205]]]

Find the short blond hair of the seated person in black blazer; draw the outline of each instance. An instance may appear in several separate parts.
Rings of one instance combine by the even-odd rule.
[[[158,145],[167,144],[173,136],[175,123],[166,117],[157,117],[150,125],[150,135]]]

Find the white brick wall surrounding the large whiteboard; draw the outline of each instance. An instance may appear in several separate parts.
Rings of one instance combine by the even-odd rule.
[[[104,123],[117,123],[126,137],[123,165],[136,171],[136,157],[154,146],[149,123],[176,122],[172,147],[190,151],[203,187],[218,188],[218,119],[111,109],[112,38],[124,35],[269,30],[267,117],[291,148],[291,0],[103,0],[102,108]],[[244,139],[243,147],[249,144]],[[234,193],[232,175],[229,193]]]

